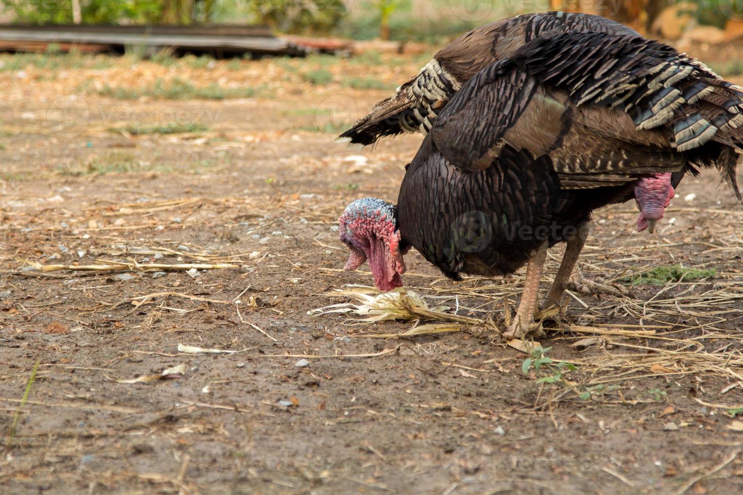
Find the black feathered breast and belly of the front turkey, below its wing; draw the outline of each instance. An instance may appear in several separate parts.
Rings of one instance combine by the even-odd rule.
[[[409,165],[398,196],[403,246],[453,280],[516,272],[533,250],[569,240],[591,211],[632,197],[632,184],[562,189],[549,157],[502,149],[497,166],[467,172],[431,143]]]

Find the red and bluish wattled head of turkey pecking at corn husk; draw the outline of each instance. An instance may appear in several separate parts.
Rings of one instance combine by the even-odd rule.
[[[340,240],[351,249],[343,267],[346,272],[369,260],[377,289],[389,291],[403,285],[400,275],[405,273],[405,261],[394,205],[374,197],[355,200],[345,208],[339,223]]]

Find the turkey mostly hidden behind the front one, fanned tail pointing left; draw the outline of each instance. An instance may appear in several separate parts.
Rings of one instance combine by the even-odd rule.
[[[374,105],[371,112],[341,134],[338,141],[371,145],[380,137],[411,132],[427,134],[447,102],[481,69],[513,55],[533,39],[565,32],[640,36],[623,24],[583,13],[533,13],[486,24],[435,53],[418,75],[400,86],[393,96]],[[640,189],[651,193],[666,191],[670,201],[683,174],[660,174],[659,177],[662,180],[652,181]],[[665,207],[648,211],[643,210],[643,203],[643,198],[637,198],[640,209],[637,230],[647,229],[653,233],[655,224],[663,218]],[[606,292],[617,295],[611,286],[583,278],[577,265],[571,275],[571,289],[584,294]]]

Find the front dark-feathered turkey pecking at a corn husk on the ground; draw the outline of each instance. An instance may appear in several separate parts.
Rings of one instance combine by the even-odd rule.
[[[505,334],[535,327],[549,246],[566,243],[545,302],[559,304],[594,209],[669,200],[669,174],[717,168],[736,199],[743,88],[639,36],[554,33],[481,70],[432,122],[397,206],[354,201],[340,217],[345,269],[369,260],[377,288],[400,286],[414,247],[452,279],[527,265]]]

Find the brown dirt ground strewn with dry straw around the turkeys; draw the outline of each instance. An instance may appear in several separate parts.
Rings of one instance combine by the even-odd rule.
[[[597,212],[584,272],[629,295],[568,298],[572,327],[542,339],[577,367],[567,384],[522,373],[528,355],[490,330],[374,338],[414,322],[308,315],[371,284],[366,268],[340,270],[337,217],[358,197],[394,201],[420,143],[333,142],[422,65],[367,62],[97,57],[0,72],[0,491],[743,491],[730,411],[743,404],[743,211],[712,172],[681,184],[655,235],[635,232],[632,204]],[[106,96],[174,77],[259,91]],[[174,120],[200,125],[136,132]],[[498,320],[517,301],[523,273],[452,283],[406,260],[408,288],[450,313]],[[112,261],[134,269],[34,264]],[[232,267],[155,278],[137,263]],[[716,273],[623,279],[678,264]]]

